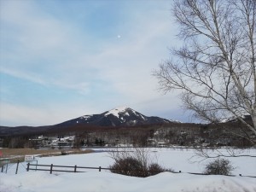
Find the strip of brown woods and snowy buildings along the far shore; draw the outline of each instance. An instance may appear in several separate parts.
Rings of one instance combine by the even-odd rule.
[[[222,132],[221,134],[219,132]],[[201,127],[177,130],[177,128],[160,128],[150,130],[115,130],[115,131],[84,131],[76,134],[55,136],[29,137],[9,139],[9,148],[81,148],[81,147],[172,147],[202,146],[242,147],[249,144],[241,137],[234,137],[229,132]],[[0,146],[3,146],[3,139]]]

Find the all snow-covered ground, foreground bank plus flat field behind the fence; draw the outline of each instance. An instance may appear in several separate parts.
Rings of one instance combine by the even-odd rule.
[[[38,164],[54,164],[58,166],[102,166],[113,164],[108,152],[91,154],[72,154],[55,157],[38,158]],[[232,172],[236,177],[191,175],[185,172],[203,172],[209,160],[194,162],[192,149],[151,148],[150,153],[161,166],[172,168],[182,173],[163,172],[152,177],[127,177],[113,174],[107,170],[86,170],[86,172],[26,172],[26,163],[19,166],[15,175],[15,165],[10,165],[6,173],[0,173],[0,192],[44,192],[44,191],[183,191],[183,192],[213,192],[237,191],[256,192],[256,158],[230,157]],[[225,153],[225,152],[224,152]],[[256,155],[256,149],[246,151],[246,154]],[[84,170],[81,170],[84,171]]]

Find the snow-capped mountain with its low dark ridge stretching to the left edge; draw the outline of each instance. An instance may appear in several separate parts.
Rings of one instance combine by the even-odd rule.
[[[61,131],[83,131],[99,127],[119,127],[131,125],[157,125],[177,123],[176,121],[162,119],[160,117],[148,117],[131,108],[113,108],[100,114],[84,115],[76,119],[67,120],[56,125],[47,126],[0,126],[0,137],[12,137],[21,135],[37,135],[55,133]]]

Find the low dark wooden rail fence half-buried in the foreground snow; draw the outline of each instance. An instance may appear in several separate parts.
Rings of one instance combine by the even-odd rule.
[[[32,168],[35,167],[35,168]],[[45,167],[49,167],[49,169],[42,169],[42,168],[38,168],[38,166],[45,166]],[[60,170],[60,169],[54,169],[54,167],[59,167],[59,168],[71,168],[72,170]],[[27,167],[26,167],[26,171],[29,172],[30,170],[32,171],[46,171],[49,172],[50,174],[52,174],[52,172],[83,172],[83,171],[78,171],[78,169],[94,169],[94,170],[99,170],[99,172],[102,172],[102,170],[113,170],[111,168],[105,168],[102,166],[98,166],[98,167],[90,167],[90,166],[55,166],[53,164],[51,165],[40,165],[40,164],[31,164],[28,163]],[[130,171],[134,171],[134,170],[130,170]],[[150,172],[150,171],[143,171],[143,172]],[[172,173],[188,173],[188,174],[192,174],[192,175],[209,175],[209,174],[205,174],[205,173],[199,173],[199,172],[172,172]],[[228,175],[230,177],[236,177],[236,176],[240,176],[240,177],[255,177],[256,176],[244,176],[244,175]]]

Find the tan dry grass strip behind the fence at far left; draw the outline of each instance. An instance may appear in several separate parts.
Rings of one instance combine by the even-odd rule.
[[[72,148],[67,151],[64,151],[63,149],[41,150],[34,148],[0,148],[0,151],[2,151],[3,153],[2,158],[9,158],[10,162],[17,162],[17,160],[20,160],[20,162],[22,162],[24,161],[25,155],[30,154],[37,155],[40,157],[47,157],[58,156],[62,154],[88,154],[93,152],[93,150],[91,149],[79,150],[76,148]]]

